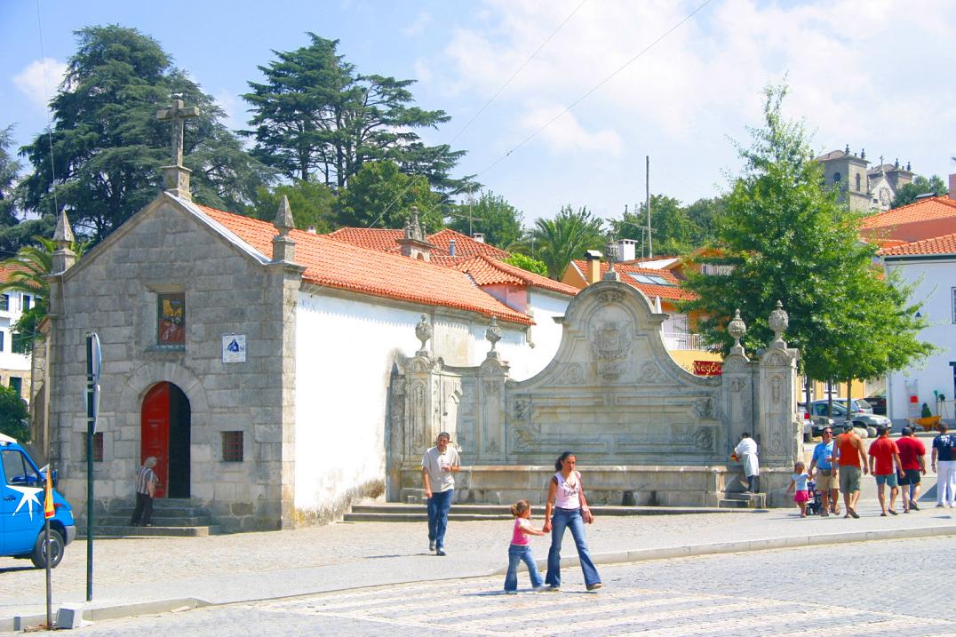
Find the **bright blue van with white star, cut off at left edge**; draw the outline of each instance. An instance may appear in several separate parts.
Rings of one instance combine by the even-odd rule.
[[[55,515],[50,518],[50,543],[44,542],[43,498],[46,474],[36,468],[33,458],[10,436],[0,433],[0,556],[30,558],[43,568],[63,559],[64,547],[76,538],[73,509],[54,490]],[[54,478],[55,480],[55,478]]]

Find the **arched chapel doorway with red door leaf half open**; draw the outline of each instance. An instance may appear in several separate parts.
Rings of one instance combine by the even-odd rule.
[[[172,383],[151,386],[142,398],[140,461],[156,457],[157,497],[189,497],[189,399]]]

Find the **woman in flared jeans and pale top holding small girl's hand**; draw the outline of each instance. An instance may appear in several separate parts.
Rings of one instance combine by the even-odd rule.
[[[548,484],[548,502],[544,509],[545,533],[551,531],[551,549],[548,551],[548,574],[544,582],[550,591],[561,588],[561,540],[564,530],[571,529],[575,538],[577,557],[584,571],[584,584],[588,590],[597,590],[601,587],[600,576],[591,560],[588,551],[588,541],[584,537],[584,524],[594,521],[591,510],[588,508],[587,498],[584,497],[584,487],[581,486],[581,474],[575,471],[577,459],[571,451],[565,451],[554,463],[557,471]]]

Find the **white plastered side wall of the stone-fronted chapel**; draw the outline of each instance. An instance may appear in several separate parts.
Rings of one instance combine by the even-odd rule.
[[[383,487],[391,364],[396,352],[412,356],[421,346],[415,325],[423,313],[434,328],[428,349],[445,364],[479,364],[490,347],[488,318],[367,298],[299,294],[294,505],[306,516],[334,515],[353,495],[374,491],[377,483]],[[503,358],[525,364],[534,350],[525,343],[523,326],[500,325]]]

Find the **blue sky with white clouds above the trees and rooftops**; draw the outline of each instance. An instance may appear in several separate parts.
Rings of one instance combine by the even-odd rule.
[[[619,217],[644,199],[647,156],[652,193],[720,194],[784,81],[816,151],[956,172],[948,0],[0,0],[0,128],[17,145],[50,119],[73,32],[110,23],[158,40],[233,129],[272,51],[338,39],[359,73],[415,79],[417,104],[451,116],[424,141],[467,151],[456,176],[527,224],[566,204]]]

